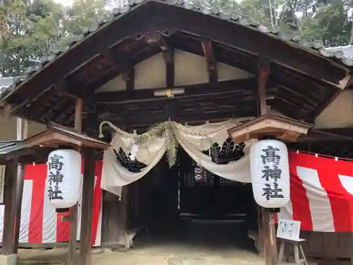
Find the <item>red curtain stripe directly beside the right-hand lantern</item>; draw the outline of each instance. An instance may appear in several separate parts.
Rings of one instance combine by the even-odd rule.
[[[301,164],[303,160],[297,153],[289,152],[289,172],[290,172],[290,199],[293,208],[293,220],[301,221],[301,230],[313,230],[313,220],[309,207],[309,199],[306,196],[306,190],[303,182],[298,177],[297,167],[306,167]]]

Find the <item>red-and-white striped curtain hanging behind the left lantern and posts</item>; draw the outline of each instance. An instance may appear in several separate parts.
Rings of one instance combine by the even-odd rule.
[[[100,246],[102,228],[102,161],[95,163],[93,194],[92,245]],[[56,213],[49,205],[45,192],[47,165],[26,165],[20,218],[21,243],[54,243],[69,240],[70,221],[62,220],[68,213]],[[80,204],[78,206],[78,237],[80,239]],[[4,228],[4,205],[0,206],[0,237]]]

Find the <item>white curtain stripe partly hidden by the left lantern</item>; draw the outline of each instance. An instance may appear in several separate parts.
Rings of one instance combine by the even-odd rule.
[[[56,211],[53,206],[49,204],[47,198],[47,187],[48,183],[45,184],[44,190],[44,204],[43,204],[43,243],[54,243],[56,242]]]

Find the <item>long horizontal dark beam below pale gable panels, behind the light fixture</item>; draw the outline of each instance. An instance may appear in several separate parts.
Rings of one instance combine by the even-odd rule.
[[[248,78],[219,82],[217,85],[217,89],[210,83],[181,86],[180,88],[184,88],[185,93],[181,95],[174,95],[174,98],[200,97],[203,95],[210,96],[218,95],[221,93],[253,93],[254,91],[256,91],[256,83],[256,78]],[[275,84],[271,83],[270,86],[275,86]],[[129,91],[96,93],[95,104],[126,104],[131,102],[139,102],[140,100],[167,99],[167,97],[156,97],[154,95],[154,91],[165,89],[166,88],[156,88],[155,90],[146,89],[134,91],[133,93]]]

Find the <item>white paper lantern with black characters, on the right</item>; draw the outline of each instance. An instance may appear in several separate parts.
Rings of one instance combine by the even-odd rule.
[[[285,143],[261,140],[250,150],[253,197],[265,208],[280,208],[290,199],[289,161]]]

